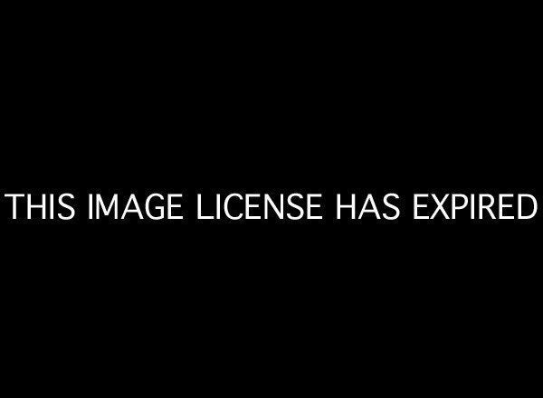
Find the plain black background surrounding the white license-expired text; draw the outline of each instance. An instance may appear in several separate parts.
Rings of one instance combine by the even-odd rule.
[[[4,218],[11,374],[335,392],[530,377],[540,215],[416,223],[410,197],[540,200],[536,26],[319,11],[27,10],[6,28],[3,194],[328,201],[296,224]],[[333,221],[334,194],[387,192],[398,222]]]

